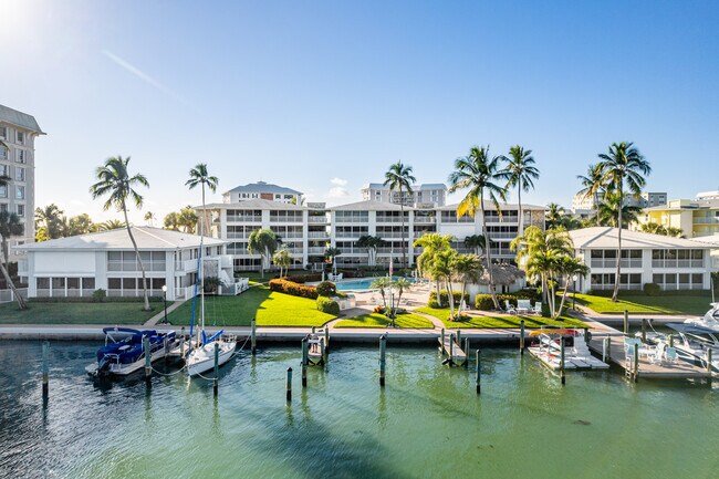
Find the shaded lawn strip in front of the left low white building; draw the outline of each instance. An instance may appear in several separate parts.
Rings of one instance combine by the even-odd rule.
[[[29,309],[17,303],[0,304],[0,324],[143,324],[163,310],[161,302],[149,303],[40,303],[30,300]]]

